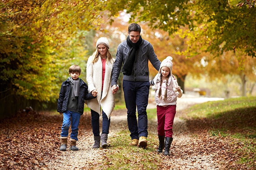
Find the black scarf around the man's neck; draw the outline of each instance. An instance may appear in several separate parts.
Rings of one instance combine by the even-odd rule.
[[[132,74],[132,70],[134,68],[134,61],[135,61],[135,57],[136,57],[136,51],[137,49],[139,49],[139,46],[142,42],[142,38],[141,35],[139,35],[139,40],[136,43],[133,43],[130,40],[130,37],[128,35],[126,42],[128,44],[128,46],[131,48],[131,50],[128,53],[128,57],[126,57],[125,61],[124,61],[124,65],[122,67],[122,73],[124,75],[131,75]]]

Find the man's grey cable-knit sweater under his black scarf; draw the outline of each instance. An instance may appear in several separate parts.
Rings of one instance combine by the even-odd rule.
[[[111,86],[117,84],[122,64],[124,63],[126,57],[128,57],[129,51],[130,47],[128,46],[126,40],[119,44],[119,46],[117,47],[115,63],[112,69]],[[139,49],[136,52],[132,75],[124,75],[123,80],[149,81],[148,60],[150,60],[156,70],[159,70],[161,64],[160,60],[158,60],[158,58],[156,57],[156,54],[150,42],[143,39]]]

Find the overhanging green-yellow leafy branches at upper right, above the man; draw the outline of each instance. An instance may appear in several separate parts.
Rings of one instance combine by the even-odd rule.
[[[237,5],[237,0],[108,0],[110,17],[123,9],[131,15],[131,21],[148,22],[150,27],[173,34],[187,26],[194,39],[188,42],[189,54],[195,45],[221,55],[224,51],[245,51],[255,57],[256,8]],[[187,32],[186,32],[187,33]],[[198,47],[198,46],[197,46]]]

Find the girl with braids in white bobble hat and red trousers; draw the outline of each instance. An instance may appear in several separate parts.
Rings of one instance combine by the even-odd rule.
[[[158,119],[158,139],[159,146],[157,152],[170,155],[169,150],[173,141],[173,120],[176,114],[177,97],[182,97],[182,90],[178,86],[177,80],[172,74],[173,58],[168,56],[160,65],[156,77],[150,81],[155,90],[155,100],[157,104]]]

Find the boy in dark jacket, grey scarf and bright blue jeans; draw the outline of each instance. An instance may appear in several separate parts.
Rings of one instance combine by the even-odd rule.
[[[79,78],[81,68],[78,65],[72,65],[69,68],[70,77],[61,84],[57,111],[63,114],[63,123],[61,127],[61,146],[59,150],[67,149],[67,136],[70,133],[70,150],[78,150],[76,147],[78,124],[80,116],[83,114],[84,100],[90,100],[96,97],[96,93],[88,93],[87,84]],[[70,119],[71,118],[71,119]]]

